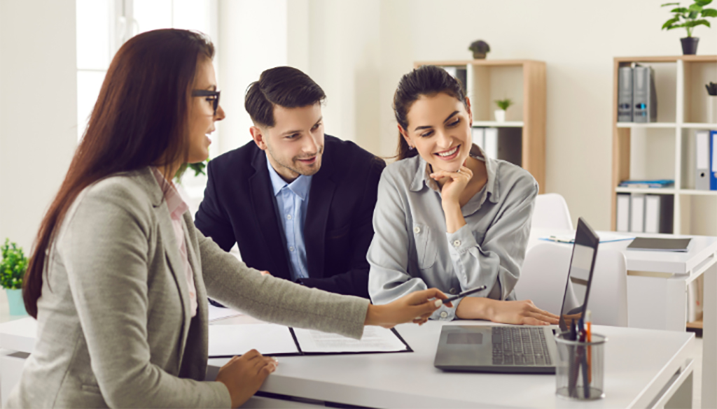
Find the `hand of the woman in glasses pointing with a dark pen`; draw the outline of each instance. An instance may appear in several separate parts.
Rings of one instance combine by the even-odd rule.
[[[384,305],[369,305],[366,312],[365,325],[378,325],[384,328],[393,328],[404,322],[424,324],[433,312],[443,305],[439,300],[447,299],[440,289],[424,289],[404,295],[394,302]],[[450,302],[446,303],[452,307]]]

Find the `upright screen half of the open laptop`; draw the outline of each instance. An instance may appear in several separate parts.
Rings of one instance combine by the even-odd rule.
[[[587,310],[592,270],[599,241],[599,237],[592,228],[582,218],[579,218],[563,296],[563,306],[560,311],[560,329],[562,331],[568,331],[571,322],[580,319]]]

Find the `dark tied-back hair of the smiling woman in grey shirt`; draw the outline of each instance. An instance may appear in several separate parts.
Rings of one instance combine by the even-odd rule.
[[[465,100],[465,92],[460,81],[456,80],[445,69],[435,65],[422,65],[412,72],[401,77],[399,85],[394,94],[394,115],[404,130],[408,130],[407,115],[411,106],[422,95],[436,95],[439,92],[455,97],[463,102],[466,109],[468,104]],[[399,146],[397,149],[397,160],[411,158],[417,155],[416,150],[409,149],[408,143],[399,132]]]

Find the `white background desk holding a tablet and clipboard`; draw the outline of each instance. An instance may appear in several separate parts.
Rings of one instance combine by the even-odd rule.
[[[540,237],[574,234],[535,229],[528,249]],[[626,233],[627,234],[627,233]],[[717,237],[640,234],[645,237],[692,237],[685,253],[627,250],[630,241],[601,243],[599,248],[622,251],[627,259],[627,314],[630,327],[684,331],[687,286],[704,274],[702,405],[717,407]],[[568,246],[569,244],[556,244]]]

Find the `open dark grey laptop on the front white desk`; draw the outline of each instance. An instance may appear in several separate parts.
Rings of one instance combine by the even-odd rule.
[[[555,373],[555,334],[587,311],[599,237],[578,219],[568,279],[556,326],[444,325],[433,365],[445,371]],[[540,307],[540,306],[538,306]]]

